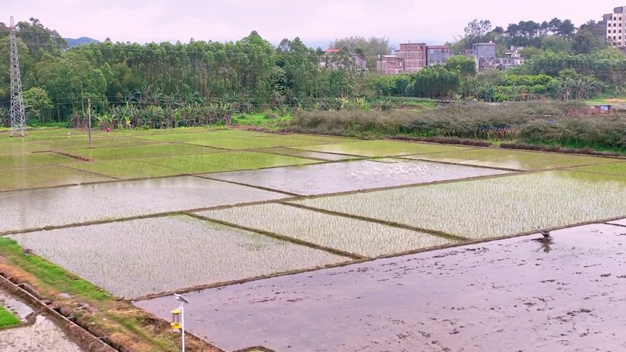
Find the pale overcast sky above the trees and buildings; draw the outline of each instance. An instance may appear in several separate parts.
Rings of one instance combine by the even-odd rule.
[[[256,30],[272,43],[296,36],[309,45],[344,36],[387,36],[392,43],[437,44],[462,34],[475,18],[505,28],[521,20],[555,17],[572,19],[578,26],[622,5],[626,1],[0,0],[0,21],[34,17],[66,38],[140,43],[235,41]]]

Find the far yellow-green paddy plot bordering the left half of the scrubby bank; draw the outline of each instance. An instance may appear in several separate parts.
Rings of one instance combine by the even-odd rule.
[[[368,140],[362,142],[312,145],[307,147],[294,148],[311,150],[313,152],[359,155],[362,157],[394,157],[399,155],[411,154],[454,152],[456,150],[468,149],[468,147],[455,147],[449,145],[434,145],[426,143],[394,142],[387,140]]]

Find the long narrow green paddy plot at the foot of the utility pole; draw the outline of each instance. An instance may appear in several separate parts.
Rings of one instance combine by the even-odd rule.
[[[169,157],[172,155],[217,152],[223,152],[223,150],[180,143],[149,144],[142,145],[141,147],[125,146],[111,148],[76,149],[71,151],[72,154],[81,155],[83,157],[93,158],[96,160]]]

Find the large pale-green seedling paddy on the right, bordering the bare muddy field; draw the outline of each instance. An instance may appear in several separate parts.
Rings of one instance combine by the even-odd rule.
[[[623,216],[626,178],[557,170],[295,204],[485,239],[527,232],[536,224],[548,228]]]

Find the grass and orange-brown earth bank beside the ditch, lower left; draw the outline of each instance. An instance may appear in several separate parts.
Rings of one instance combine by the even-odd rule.
[[[24,256],[16,241],[0,237],[0,256],[0,271],[28,282],[44,297],[72,309],[79,321],[90,324],[113,343],[130,351],[180,351],[180,334],[172,333],[167,322],[128,301],[117,301],[100,287],[41,257]],[[88,309],[76,309],[80,306]],[[193,336],[187,337],[186,344],[188,351],[219,351]]]

